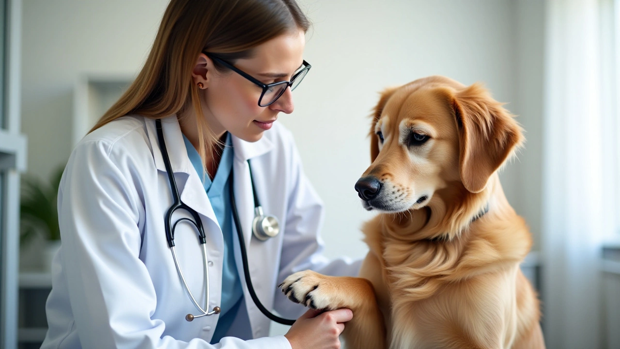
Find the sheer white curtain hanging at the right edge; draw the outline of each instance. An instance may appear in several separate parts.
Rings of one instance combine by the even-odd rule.
[[[542,298],[549,349],[605,347],[601,246],[618,233],[620,215],[613,2],[547,1]]]

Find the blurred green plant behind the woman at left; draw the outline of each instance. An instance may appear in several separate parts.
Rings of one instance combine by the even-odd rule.
[[[53,171],[49,181],[34,176],[22,177],[20,204],[20,242],[24,244],[37,232],[47,240],[60,240],[56,199],[64,166]]]

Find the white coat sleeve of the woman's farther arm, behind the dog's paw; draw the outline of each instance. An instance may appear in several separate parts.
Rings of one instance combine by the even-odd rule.
[[[360,260],[341,257],[328,260],[322,255],[324,242],[319,234],[323,222],[323,203],[303,172],[303,165],[290,136],[291,189],[283,237],[278,283],[290,274],[313,270],[330,276],[357,276]],[[277,292],[274,308],[284,317],[299,317],[306,310]]]

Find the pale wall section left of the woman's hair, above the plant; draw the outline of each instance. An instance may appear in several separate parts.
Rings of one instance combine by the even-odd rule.
[[[134,75],[153,43],[166,0],[25,0],[22,127],[29,173],[46,177],[71,152],[79,73]]]

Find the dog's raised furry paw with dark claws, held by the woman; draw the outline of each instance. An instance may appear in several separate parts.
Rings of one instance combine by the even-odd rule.
[[[335,297],[330,276],[311,270],[292,274],[278,288],[291,301],[312,309],[334,310],[342,307]]]

